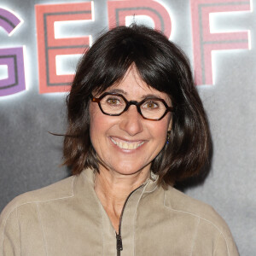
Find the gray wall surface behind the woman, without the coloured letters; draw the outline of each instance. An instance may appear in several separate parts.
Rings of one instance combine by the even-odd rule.
[[[193,0],[191,0],[193,1]],[[2,0],[0,8],[24,20],[12,37],[0,28],[0,48],[26,45],[26,86],[15,96],[0,97],[0,211],[16,195],[54,183],[69,175],[61,167],[66,126],[65,93],[39,94],[37,31],[34,5],[67,1]],[[68,2],[75,2],[69,0]],[[171,39],[193,61],[189,1],[161,0],[172,17]],[[207,2],[207,1],[206,1]],[[253,5],[256,1],[252,1]],[[108,29],[107,1],[96,0],[96,20],[79,26],[92,39]],[[216,28],[250,30],[252,49],[213,54],[214,85],[198,86],[212,131],[212,162],[207,178],[190,183],[187,194],[211,204],[230,225],[241,255],[256,252],[256,32],[255,12],[219,15]],[[72,32],[71,32],[72,34]],[[71,61],[70,66],[72,67]],[[1,75],[1,73],[0,73]]]

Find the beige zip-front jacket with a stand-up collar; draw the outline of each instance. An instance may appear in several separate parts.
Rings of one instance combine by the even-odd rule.
[[[120,235],[121,256],[238,255],[212,207],[152,180],[129,197]],[[0,256],[111,256],[116,247],[91,170],[16,197],[0,217]]]

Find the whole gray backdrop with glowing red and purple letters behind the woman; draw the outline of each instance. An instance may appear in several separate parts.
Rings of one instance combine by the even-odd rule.
[[[247,0],[1,0],[0,211],[16,195],[69,175],[61,167],[65,98],[79,56],[102,31],[132,21],[189,55],[212,131],[206,179],[181,184],[256,252],[255,12]]]

